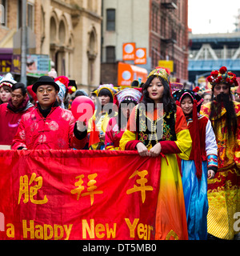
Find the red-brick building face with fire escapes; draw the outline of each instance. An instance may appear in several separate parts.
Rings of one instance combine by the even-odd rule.
[[[174,61],[174,78],[188,79],[188,1],[152,0],[150,8],[150,56]]]

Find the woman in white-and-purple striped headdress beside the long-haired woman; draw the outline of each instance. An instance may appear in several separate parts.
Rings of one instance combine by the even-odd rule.
[[[119,150],[119,142],[126,129],[130,113],[142,98],[142,93],[133,88],[120,90],[115,94],[118,105],[118,115],[110,118],[106,128],[105,150]]]

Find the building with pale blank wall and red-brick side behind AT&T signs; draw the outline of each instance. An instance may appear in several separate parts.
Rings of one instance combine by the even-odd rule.
[[[188,79],[188,1],[180,0],[102,0],[101,81],[117,85],[122,45],[134,42],[146,48],[146,64],[137,65],[150,72],[158,61],[174,62],[171,78]],[[125,61],[134,65],[133,61]]]

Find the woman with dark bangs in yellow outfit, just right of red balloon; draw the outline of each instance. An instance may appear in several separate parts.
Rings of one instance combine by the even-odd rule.
[[[98,87],[97,110],[88,122],[90,150],[105,149],[106,126],[110,118],[118,113],[114,112],[113,102],[116,90],[112,84],[104,84]]]

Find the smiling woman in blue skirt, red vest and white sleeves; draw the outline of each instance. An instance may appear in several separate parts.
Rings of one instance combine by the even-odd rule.
[[[198,114],[203,98],[187,89],[177,90],[173,96],[185,114],[193,142],[190,159],[181,164],[188,238],[206,240],[207,178],[214,178],[218,170],[218,146],[210,120]]]

